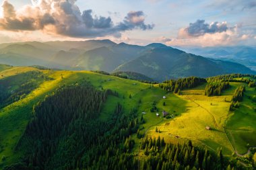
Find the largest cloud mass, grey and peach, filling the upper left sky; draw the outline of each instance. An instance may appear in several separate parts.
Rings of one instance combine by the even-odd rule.
[[[114,24],[110,17],[93,15],[92,9],[80,11],[76,0],[42,0],[36,6],[27,5],[15,11],[3,1],[0,30],[13,32],[42,30],[75,38],[121,36],[127,30],[152,30],[154,24],[145,24],[143,11],[130,11],[122,22]]]

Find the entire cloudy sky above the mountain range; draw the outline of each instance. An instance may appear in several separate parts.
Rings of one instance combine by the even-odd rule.
[[[0,0],[0,43],[256,46],[256,0]]]

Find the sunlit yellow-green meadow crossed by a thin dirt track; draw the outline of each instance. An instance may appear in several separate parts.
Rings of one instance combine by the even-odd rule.
[[[160,135],[167,142],[174,143],[193,140],[194,143],[213,151],[222,147],[225,155],[231,155],[233,146],[226,136],[224,126],[229,114],[228,101],[236,85],[231,85],[223,95],[214,97],[205,96],[204,88],[205,84],[182,91],[182,95],[177,96],[178,100],[172,100],[172,106],[177,105],[181,110],[181,116],[158,125],[161,133],[156,133],[154,126],[149,134],[156,137]],[[172,106],[169,106],[170,110]],[[166,107],[168,108],[167,105]],[[206,130],[206,126],[210,126],[212,130]]]

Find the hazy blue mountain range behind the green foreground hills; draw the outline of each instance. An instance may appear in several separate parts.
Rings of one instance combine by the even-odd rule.
[[[226,73],[249,73],[254,71],[244,65],[251,58],[255,67],[255,49],[236,50],[182,50],[164,44],[137,46],[116,44],[110,40],[88,40],[82,42],[24,42],[0,44],[0,63],[14,66],[42,65],[55,69],[100,70],[107,72],[132,71],[154,80],[163,81],[178,77],[210,77]],[[212,55],[212,53],[213,55]],[[231,53],[233,52],[233,53]],[[255,53],[253,53],[255,52]],[[246,56],[245,58],[239,57]],[[212,58],[228,58],[214,60]],[[230,57],[234,56],[234,57]],[[248,67],[250,65],[247,65]]]

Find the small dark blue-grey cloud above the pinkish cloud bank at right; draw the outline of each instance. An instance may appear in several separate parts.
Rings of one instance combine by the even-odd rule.
[[[206,33],[214,34],[216,32],[226,32],[226,30],[228,30],[226,22],[207,24],[203,19],[198,19],[195,23],[191,23],[185,28],[185,31],[187,31],[187,34],[190,36],[202,36]]]

